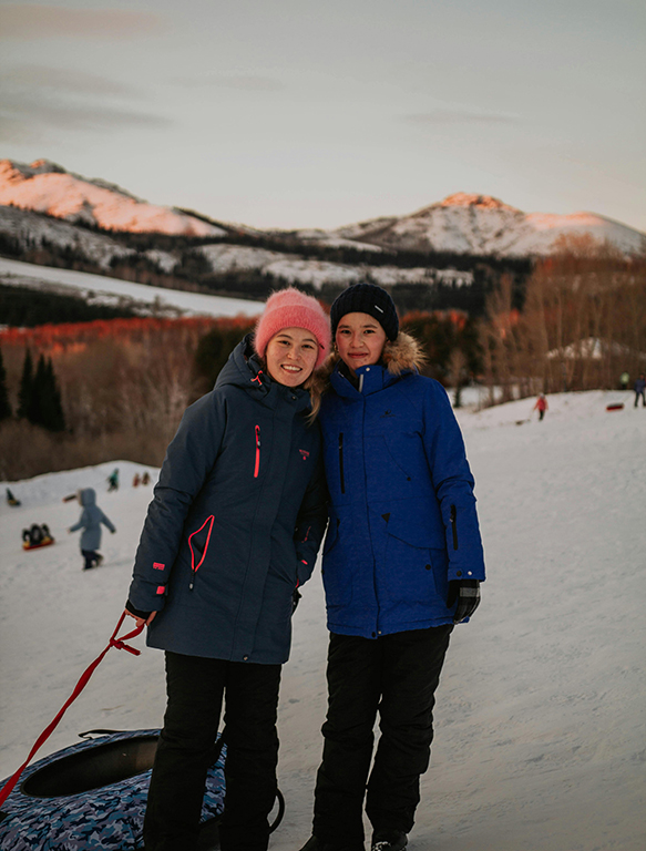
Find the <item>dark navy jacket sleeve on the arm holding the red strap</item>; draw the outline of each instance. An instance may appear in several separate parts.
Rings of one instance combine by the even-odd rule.
[[[186,409],[166,450],[136,551],[129,602],[142,612],[164,607],[186,515],[219,453],[226,402],[212,391]]]

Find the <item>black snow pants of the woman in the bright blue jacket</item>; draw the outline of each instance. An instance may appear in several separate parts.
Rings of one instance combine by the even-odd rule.
[[[411,830],[452,629],[413,629],[372,640],[330,635],[328,714],[314,807],[314,834],[321,841],[363,841],[363,797],[378,710],[381,737],[366,812],[375,830]]]

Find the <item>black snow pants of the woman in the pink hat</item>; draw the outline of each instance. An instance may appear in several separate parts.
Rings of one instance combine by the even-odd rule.
[[[146,851],[194,851],[226,694],[222,851],[266,851],[276,798],[280,665],[166,653],[167,706],[144,819]]]

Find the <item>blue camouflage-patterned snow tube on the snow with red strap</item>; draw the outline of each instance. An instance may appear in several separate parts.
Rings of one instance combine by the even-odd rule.
[[[84,739],[25,768],[0,813],[1,851],[142,849],[158,735],[130,730]],[[208,769],[203,826],[222,814],[224,789],[221,755]]]

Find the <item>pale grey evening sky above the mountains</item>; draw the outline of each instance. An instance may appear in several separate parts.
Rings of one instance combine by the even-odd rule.
[[[646,230],[643,0],[0,0],[0,158],[267,228],[457,192]]]

